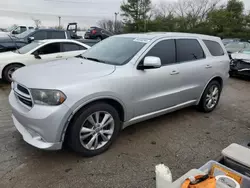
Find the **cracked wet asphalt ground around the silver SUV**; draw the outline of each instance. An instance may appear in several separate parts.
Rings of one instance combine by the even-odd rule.
[[[169,166],[176,179],[216,159],[229,144],[250,142],[250,82],[245,80],[229,80],[214,112],[186,108],[130,126],[93,158],[26,144],[11,120],[9,90],[0,83],[1,188],[151,188],[156,164]]]

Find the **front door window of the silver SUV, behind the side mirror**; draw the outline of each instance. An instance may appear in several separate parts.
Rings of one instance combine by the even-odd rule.
[[[158,42],[146,56],[155,56],[161,59],[162,65],[175,63],[175,42],[164,40]]]

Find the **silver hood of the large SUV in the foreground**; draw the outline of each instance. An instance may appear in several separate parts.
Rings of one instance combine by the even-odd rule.
[[[70,58],[21,68],[15,71],[13,79],[28,88],[62,89],[109,75],[114,70],[114,65]]]

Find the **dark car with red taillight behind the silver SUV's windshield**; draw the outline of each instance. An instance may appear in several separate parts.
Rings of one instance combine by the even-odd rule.
[[[105,29],[102,29],[99,27],[91,27],[85,33],[84,38],[85,39],[103,40],[103,39],[106,39],[112,35],[113,35],[113,33],[109,32]]]

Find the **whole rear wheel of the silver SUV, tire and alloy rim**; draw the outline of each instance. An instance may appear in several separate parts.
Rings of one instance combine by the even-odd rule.
[[[221,85],[218,81],[210,82],[205,89],[198,108],[203,112],[212,112],[219,103],[221,94]]]

